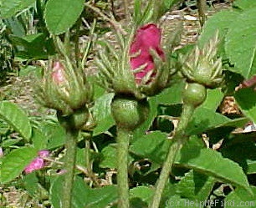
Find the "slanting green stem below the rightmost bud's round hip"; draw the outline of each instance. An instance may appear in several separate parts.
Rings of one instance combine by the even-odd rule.
[[[187,124],[189,120],[192,118],[192,114],[194,113],[194,107],[190,104],[184,104],[182,115],[180,122],[177,126],[176,133],[173,139],[170,141],[170,148],[168,154],[166,156],[166,160],[163,164],[161,175],[156,182],[156,189],[153,195],[153,199],[151,202],[150,208],[157,208],[161,202],[161,195],[163,190],[165,189],[166,182],[169,178],[169,175],[172,171],[172,165],[174,164],[175,157],[177,152],[182,149],[182,145],[186,142],[187,136],[185,134],[185,129],[187,128]]]

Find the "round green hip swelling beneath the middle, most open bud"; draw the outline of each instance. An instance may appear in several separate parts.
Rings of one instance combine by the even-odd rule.
[[[149,114],[149,104],[145,99],[115,97],[111,104],[115,123],[122,129],[133,130],[140,126]]]

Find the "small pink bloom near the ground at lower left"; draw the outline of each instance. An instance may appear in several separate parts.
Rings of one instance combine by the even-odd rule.
[[[40,170],[44,168],[45,162],[43,158],[47,156],[49,156],[49,150],[38,151],[38,157],[33,159],[33,161],[25,167],[25,174],[29,174],[32,173],[34,170]]]

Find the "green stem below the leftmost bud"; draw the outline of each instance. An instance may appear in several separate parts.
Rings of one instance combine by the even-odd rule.
[[[65,170],[67,171],[64,175],[64,190],[63,190],[63,201],[62,207],[72,207],[72,190],[74,183],[74,169],[75,169],[75,156],[76,156],[76,140],[78,131],[73,129],[66,129],[66,156],[65,156]]]

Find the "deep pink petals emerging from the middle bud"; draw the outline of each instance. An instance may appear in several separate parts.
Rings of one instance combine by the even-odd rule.
[[[148,23],[136,31],[135,38],[131,43],[131,69],[136,69],[145,64],[145,68],[135,74],[137,84],[141,84],[147,73],[155,69],[154,59],[151,56],[150,49],[164,60],[165,55],[161,48],[161,29],[157,28],[156,24]],[[156,73],[151,74],[153,78]]]

